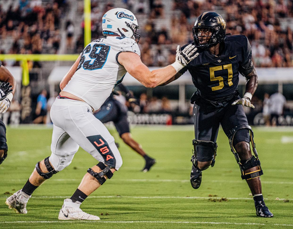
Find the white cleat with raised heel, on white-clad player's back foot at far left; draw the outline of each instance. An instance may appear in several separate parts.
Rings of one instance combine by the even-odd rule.
[[[12,196],[6,199],[5,204],[8,206],[8,208],[16,211],[16,213],[26,214],[28,213],[28,211],[26,210],[26,203],[28,202],[30,197],[31,196],[24,193],[23,191],[18,190]]]

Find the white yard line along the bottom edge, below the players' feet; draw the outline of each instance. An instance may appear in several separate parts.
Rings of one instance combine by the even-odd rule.
[[[263,225],[263,226],[288,226],[293,224],[279,223],[229,223],[229,222],[188,222],[188,221],[0,221],[2,223],[188,223],[188,224],[225,224],[225,225]]]

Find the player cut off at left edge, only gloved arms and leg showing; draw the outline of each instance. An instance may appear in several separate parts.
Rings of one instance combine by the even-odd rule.
[[[10,106],[16,88],[16,81],[0,61],[0,114],[4,114]],[[6,127],[0,118],[0,164],[7,157]]]

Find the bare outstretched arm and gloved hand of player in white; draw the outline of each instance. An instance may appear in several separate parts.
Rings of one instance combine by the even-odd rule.
[[[124,66],[127,72],[141,82],[145,87],[156,87],[170,80],[176,73],[184,68],[190,61],[198,56],[195,53],[197,48],[194,45],[188,45],[182,51],[177,47],[176,61],[164,68],[150,71],[142,63],[140,57],[132,52],[121,52],[118,56],[118,62]]]

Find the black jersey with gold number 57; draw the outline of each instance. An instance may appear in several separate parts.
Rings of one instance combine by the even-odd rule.
[[[189,70],[197,88],[191,97],[192,103],[201,100],[213,107],[226,106],[239,94],[239,72],[248,75],[253,70],[251,46],[246,36],[228,36],[224,44],[224,51],[219,57],[207,50],[199,50],[200,54],[180,70],[180,73]]]

